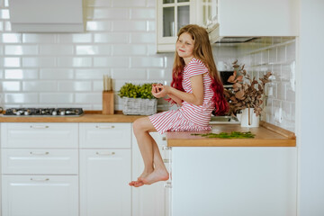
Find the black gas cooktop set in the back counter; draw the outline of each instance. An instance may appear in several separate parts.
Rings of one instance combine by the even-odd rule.
[[[15,116],[80,116],[82,108],[10,108],[4,115]]]

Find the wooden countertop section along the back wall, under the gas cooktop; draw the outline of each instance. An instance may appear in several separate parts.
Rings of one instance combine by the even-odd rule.
[[[85,111],[82,116],[8,116],[0,115],[0,122],[133,122],[143,115],[124,115],[121,113],[105,115],[100,112]]]

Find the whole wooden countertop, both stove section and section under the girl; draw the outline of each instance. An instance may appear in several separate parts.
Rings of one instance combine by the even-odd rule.
[[[143,115],[124,115],[120,112],[112,115],[104,115],[101,112],[85,111],[78,117],[28,117],[0,115],[0,122],[133,122]],[[253,139],[220,139],[193,136],[192,133],[220,133],[231,131],[251,131],[256,134]],[[204,131],[179,131],[166,132],[167,145],[169,147],[295,147],[296,137],[293,132],[284,130],[273,124],[260,122],[258,128],[242,128],[239,124],[216,124],[212,130]]]

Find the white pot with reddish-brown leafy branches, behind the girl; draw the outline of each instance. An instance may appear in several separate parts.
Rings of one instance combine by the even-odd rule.
[[[261,104],[264,101],[264,89],[266,83],[270,82],[271,72],[267,72],[259,80],[251,78],[244,69],[245,65],[239,66],[238,60],[232,63],[234,72],[229,76],[228,82],[233,84],[232,89],[226,89],[224,94],[229,101],[229,114],[236,115],[243,111],[241,126],[257,127],[258,117],[262,112]],[[252,117],[255,116],[254,122]],[[246,121],[247,120],[247,121]]]

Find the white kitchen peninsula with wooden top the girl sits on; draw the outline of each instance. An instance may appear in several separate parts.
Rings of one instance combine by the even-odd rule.
[[[192,133],[251,131],[253,139]],[[166,132],[173,216],[296,216],[297,148],[293,132],[216,124],[211,131]]]

